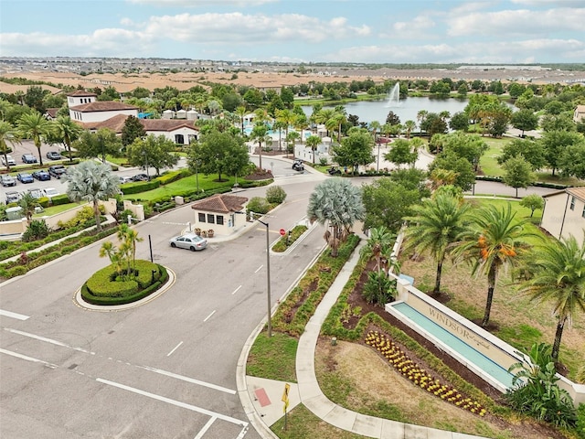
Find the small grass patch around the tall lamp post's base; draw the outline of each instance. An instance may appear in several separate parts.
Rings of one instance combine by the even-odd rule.
[[[250,348],[246,374],[252,377],[296,382],[296,348],[299,340],[280,332],[269,338],[261,332]]]

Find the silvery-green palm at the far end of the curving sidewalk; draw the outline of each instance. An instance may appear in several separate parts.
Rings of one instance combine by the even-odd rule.
[[[335,258],[340,242],[346,240],[347,230],[351,230],[354,222],[366,218],[361,189],[346,178],[324,180],[309,197],[307,216],[325,226],[324,240]]]

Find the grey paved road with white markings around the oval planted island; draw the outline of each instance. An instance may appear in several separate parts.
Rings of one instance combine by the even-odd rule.
[[[318,177],[320,178],[320,177]],[[270,239],[301,219],[311,175],[282,177],[289,199],[268,218]],[[265,187],[241,195],[263,195]],[[176,273],[173,288],[126,311],[75,305],[85,279],[108,264],[99,245],[1,285],[0,436],[6,438],[258,438],[236,394],[239,352],[266,314],[266,229],[204,252],[171,249],[188,207],[137,226],[138,257]],[[323,248],[316,228],[271,257],[272,304]],[[5,313],[5,312],[8,313]]]

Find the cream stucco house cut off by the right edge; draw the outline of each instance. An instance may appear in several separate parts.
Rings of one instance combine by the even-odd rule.
[[[585,187],[568,187],[545,195],[540,226],[555,238],[585,239]]]

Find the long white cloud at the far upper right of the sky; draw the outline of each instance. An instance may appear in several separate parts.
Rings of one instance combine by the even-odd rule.
[[[514,35],[541,36],[551,32],[582,32],[583,23],[585,8],[547,11],[505,10],[451,16],[447,20],[449,26],[447,34],[452,37],[497,36],[498,39]]]

